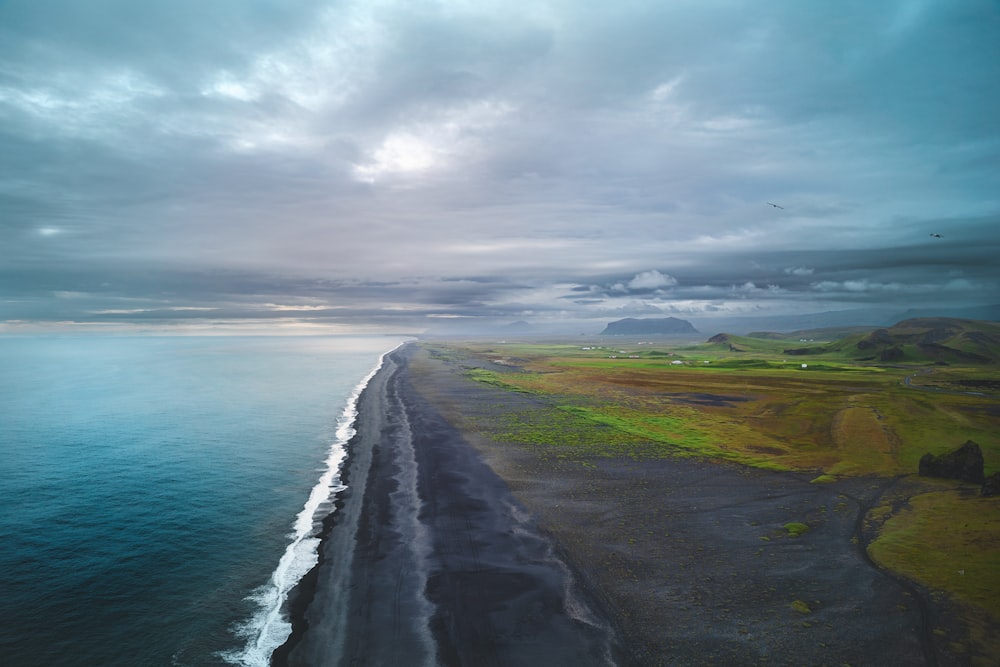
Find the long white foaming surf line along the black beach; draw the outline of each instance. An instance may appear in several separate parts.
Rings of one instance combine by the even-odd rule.
[[[358,416],[358,399],[382,368],[385,357],[397,348],[379,357],[375,367],[354,387],[347,399],[347,405],[337,420],[337,431],[330,445],[326,468],[309,493],[302,511],[295,518],[291,542],[285,548],[270,581],[248,598],[258,605],[258,610],[236,628],[237,636],[245,639],[246,644],[242,649],[220,654],[226,662],[241,667],[268,667],[271,654],[291,635],[292,625],[285,614],[285,602],[289,592],[319,562],[318,534],[323,519],[335,511],[333,500],[337,494],[347,489],[341,483],[340,471],[347,458],[347,443],[356,433],[354,424]]]

